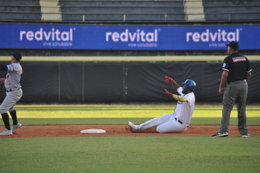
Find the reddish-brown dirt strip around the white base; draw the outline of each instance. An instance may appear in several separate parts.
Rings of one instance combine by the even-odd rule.
[[[11,136],[0,138],[30,138],[30,137],[97,137],[97,136],[199,136],[213,135],[218,126],[191,125],[181,133],[157,133],[156,128],[144,131],[133,131],[127,125],[42,125],[22,126]],[[1,126],[4,128],[4,126]],[[85,129],[104,129],[106,133],[80,133]],[[260,126],[248,126],[250,135],[260,135]],[[237,126],[229,126],[229,135],[240,135]]]

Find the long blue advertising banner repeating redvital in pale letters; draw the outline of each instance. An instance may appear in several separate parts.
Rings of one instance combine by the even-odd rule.
[[[83,50],[260,49],[260,25],[120,26],[0,24],[0,48]]]

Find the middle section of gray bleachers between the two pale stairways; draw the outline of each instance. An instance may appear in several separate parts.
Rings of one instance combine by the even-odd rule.
[[[183,1],[60,0],[63,21],[185,21]]]

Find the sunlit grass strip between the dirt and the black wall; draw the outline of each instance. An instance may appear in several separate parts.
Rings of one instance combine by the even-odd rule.
[[[17,105],[23,125],[44,124],[126,124],[141,123],[172,113],[176,105]],[[260,125],[260,106],[247,106],[247,124]],[[11,117],[10,117],[11,118]],[[219,125],[222,105],[196,105],[191,125]],[[10,123],[12,123],[10,119]],[[3,125],[3,121],[0,122]],[[237,110],[231,112],[230,125],[237,125]]]

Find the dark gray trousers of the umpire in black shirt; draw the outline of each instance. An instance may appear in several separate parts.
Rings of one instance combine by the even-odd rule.
[[[223,95],[222,121],[218,133],[229,131],[230,113],[234,104],[237,103],[238,132],[241,135],[248,135],[245,113],[247,91],[247,82],[226,85]]]

